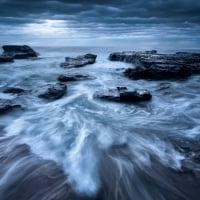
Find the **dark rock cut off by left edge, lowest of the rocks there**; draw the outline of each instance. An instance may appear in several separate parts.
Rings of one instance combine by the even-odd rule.
[[[11,100],[0,99],[0,114],[4,114],[5,112],[9,112],[15,108],[22,108],[21,105],[15,104]]]

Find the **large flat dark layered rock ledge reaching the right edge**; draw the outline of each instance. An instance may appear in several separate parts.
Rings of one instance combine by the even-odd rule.
[[[158,54],[156,50],[131,51],[112,53],[109,59],[134,64],[135,67],[124,72],[131,79],[183,79],[192,74],[200,74],[200,53]]]

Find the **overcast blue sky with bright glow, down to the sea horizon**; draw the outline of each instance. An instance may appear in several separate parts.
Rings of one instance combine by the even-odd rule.
[[[0,44],[200,48],[200,0],[0,0]]]

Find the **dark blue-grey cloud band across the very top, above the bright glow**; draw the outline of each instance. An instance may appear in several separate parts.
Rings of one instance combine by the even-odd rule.
[[[17,17],[19,23],[30,18],[73,18],[102,23],[169,23],[200,22],[200,1],[197,0],[3,0],[0,16]],[[30,17],[31,16],[31,17]],[[112,20],[110,18],[113,17]],[[117,17],[117,19],[115,18]],[[22,18],[22,19],[19,19]],[[114,20],[116,19],[116,20]],[[133,19],[133,20],[132,20]],[[138,21],[136,21],[138,19]],[[155,20],[154,20],[155,19]],[[119,21],[118,21],[119,20]],[[16,23],[9,20],[9,23]]]

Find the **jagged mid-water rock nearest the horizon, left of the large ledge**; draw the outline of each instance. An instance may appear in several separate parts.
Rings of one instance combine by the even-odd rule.
[[[83,67],[95,63],[96,57],[97,55],[89,53],[75,58],[66,57],[65,62],[61,63],[60,66],[64,68]]]

